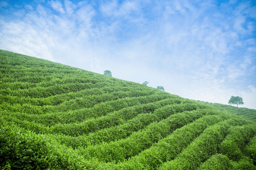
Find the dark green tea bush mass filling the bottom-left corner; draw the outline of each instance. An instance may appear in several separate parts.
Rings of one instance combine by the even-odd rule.
[[[1,169],[72,170],[97,164],[96,160],[85,160],[76,150],[60,145],[52,137],[0,122]]]

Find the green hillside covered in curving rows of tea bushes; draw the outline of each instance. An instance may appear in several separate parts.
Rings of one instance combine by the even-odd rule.
[[[5,50],[0,65],[1,169],[256,169],[253,109]]]

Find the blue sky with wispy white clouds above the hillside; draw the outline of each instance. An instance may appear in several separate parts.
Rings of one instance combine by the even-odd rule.
[[[0,49],[256,109],[256,1],[0,0]]]

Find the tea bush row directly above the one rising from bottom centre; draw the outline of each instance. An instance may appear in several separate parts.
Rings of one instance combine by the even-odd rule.
[[[172,131],[204,116],[203,111],[185,111],[176,113],[160,122],[153,122],[143,130],[131,134],[126,139],[89,146],[81,149],[85,158],[96,157],[104,162],[119,162],[135,156],[151,147],[159,139],[166,138]]]

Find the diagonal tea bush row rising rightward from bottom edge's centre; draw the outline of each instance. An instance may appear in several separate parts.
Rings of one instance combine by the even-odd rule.
[[[117,169],[156,169],[164,162],[175,159],[189,143],[203,133],[204,129],[229,117],[228,115],[208,115],[201,117],[195,122],[175,130],[166,138],[160,139],[158,143],[142,151],[137,156],[119,164]]]

